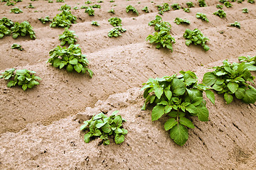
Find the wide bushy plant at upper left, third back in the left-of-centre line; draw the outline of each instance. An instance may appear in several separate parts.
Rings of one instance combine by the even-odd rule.
[[[50,23],[50,27],[70,28],[72,23],[76,23],[76,20],[76,16],[73,16],[70,11],[63,10],[53,18],[53,22]]]

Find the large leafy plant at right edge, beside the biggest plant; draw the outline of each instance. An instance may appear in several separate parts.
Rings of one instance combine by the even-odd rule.
[[[233,101],[233,96],[245,103],[255,103],[256,89],[247,83],[255,79],[250,73],[256,71],[255,66],[246,62],[230,64],[228,60],[224,60],[222,66],[212,69],[215,70],[203,75],[203,83],[212,86],[218,94],[224,94],[228,104]]]

